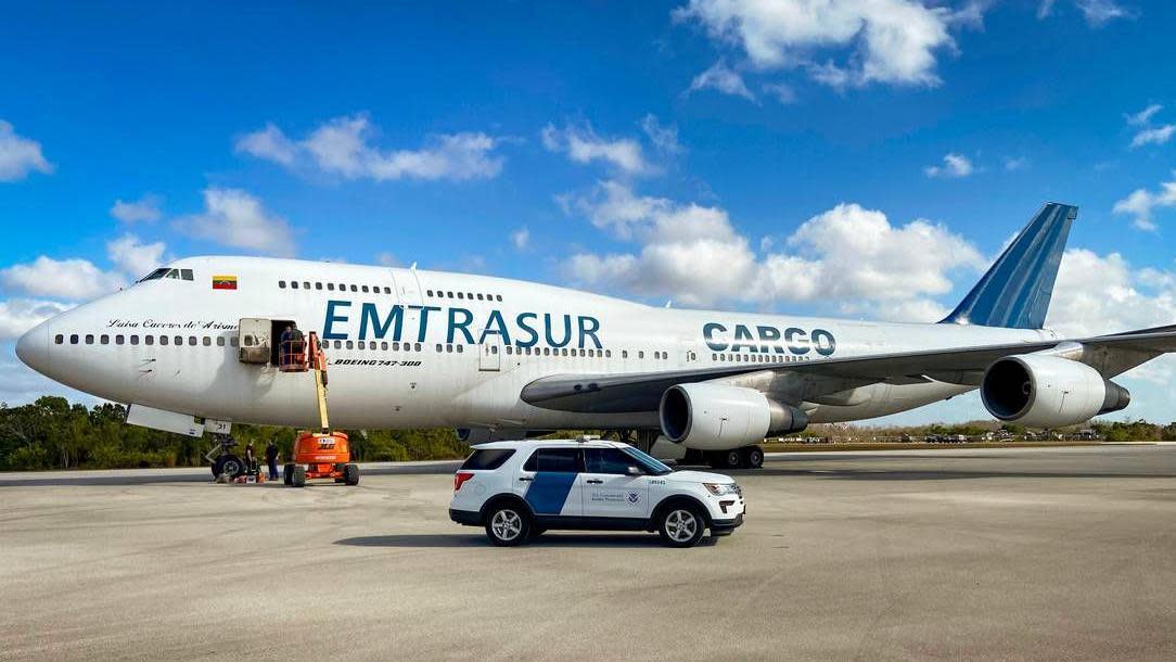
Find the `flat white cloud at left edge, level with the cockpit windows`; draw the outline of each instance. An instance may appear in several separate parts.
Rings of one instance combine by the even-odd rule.
[[[86,301],[127,285],[118,273],[103,272],[89,260],[54,260],[41,255],[25,265],[0,269],[0,283],[8,292],[31,296]]]

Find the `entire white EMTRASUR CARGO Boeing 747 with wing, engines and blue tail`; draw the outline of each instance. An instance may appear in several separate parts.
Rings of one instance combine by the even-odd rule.
[[[314,381],[280,366],[287,326],[329,357],[340,428],[636,433],[662,457],[757,466],[766,435],[980,388],[1002,421],[1081,423],[1128,406],[1112,377],[1176,350],[1176,326],[1065,340],[1045,329],[1077,208],[1048,203],[940,323],[677,310],[416,268],[189,258],[16,345],[33,369],[192,435],[313,427]]]

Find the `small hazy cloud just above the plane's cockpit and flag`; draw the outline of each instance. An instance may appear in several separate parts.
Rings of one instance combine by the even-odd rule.
[[[270,215],[261,201],[236,188],[207,188],[205,210],[179,219],[176,225],[194,236],[223,246],[273,255],[293,255],[289,225]]]

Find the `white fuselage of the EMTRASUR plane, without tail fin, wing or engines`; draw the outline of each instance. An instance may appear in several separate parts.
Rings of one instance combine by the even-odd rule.
[[[1048,330],[653,308],[546,285],[402,268],[265,258],[192,258],[172,267],[191,269],[193,279],[141,282],[59,315],[21,340],[21,357],[56,381],[116,402],[221,421],[312,426],[318,409],[308,374],[238,359],[241,319],[290,320],[325,341],[330,417],[339,428],[653,428],[653,412],[567,413],[530,406],[520,393],[550,375],[1056,337]],[[234,276],[236,289],[214,289],[214,275]],[[880,383],[834,404],[803,408],[811,422],[860,420],[969,389]]]

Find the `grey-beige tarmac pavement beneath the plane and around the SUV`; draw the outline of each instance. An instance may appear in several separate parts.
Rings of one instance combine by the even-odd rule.
[[[359,487],[0,474],[0,658],[1176,658],[1176,446],[769,455],[694,549]]]

